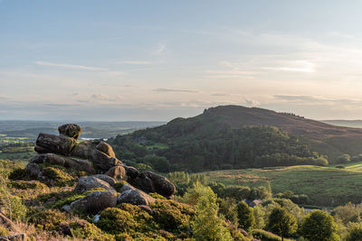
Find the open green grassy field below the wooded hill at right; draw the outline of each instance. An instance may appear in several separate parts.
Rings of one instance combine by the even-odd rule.
[[[205,172],[208,181],[224,185],[255,187],[271,183],[272,192],[292,190],[307,194],[310,204],[333,207],[348,201],[362,201],[362,163],[349,164],[345,169],[319,166],[291,166],[264,169],[243,169]]]

